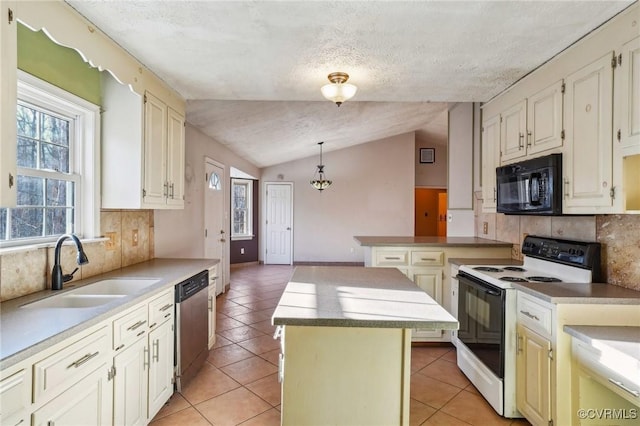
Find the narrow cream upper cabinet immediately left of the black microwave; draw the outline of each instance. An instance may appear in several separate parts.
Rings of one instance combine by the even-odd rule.
[[[500,159],[500,116],[482,123],[482,211],[496,211],[496,167]]]

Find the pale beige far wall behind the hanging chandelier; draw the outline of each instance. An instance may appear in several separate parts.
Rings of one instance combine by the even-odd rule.
[[[325,172],[333,185],[322,192],[309,185],[316,156],[262,170],[263,185],[294,184],[294,262],[364,262],[354,236],[413,235],[413,132],[337,151],[330,144],[325,148]],[[262,260],[264,235],[261,240]]]

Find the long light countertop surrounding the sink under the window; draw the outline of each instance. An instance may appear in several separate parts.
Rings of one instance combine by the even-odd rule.
[[[126,268],[0,303],[0,370],[160,293],[217,264],[214,259],[152,259]],[[139,293],[94,308],[24,309],[22,305],[106,278],[159,278]]]

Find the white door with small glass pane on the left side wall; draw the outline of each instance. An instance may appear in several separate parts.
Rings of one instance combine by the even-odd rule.
[[[204,183],[204,256],[220,259],[216,295],[222,293],[225,283],[225,247],[227,236],[224,230],[224,166],[205,159]]]

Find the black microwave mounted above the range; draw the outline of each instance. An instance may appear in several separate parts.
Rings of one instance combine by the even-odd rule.
[[[496,168],[497,211],[505,214],[562,214],[562,154]]]

